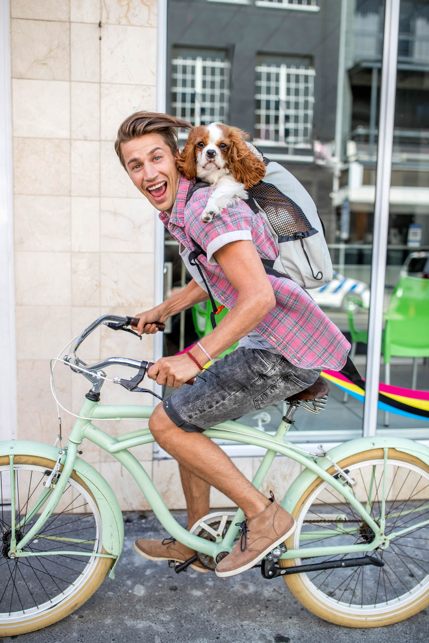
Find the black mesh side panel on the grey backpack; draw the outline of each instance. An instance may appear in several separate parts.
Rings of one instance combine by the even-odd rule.
[[[267,215],[268,221],[278,237],[293,237],[297,232],[313,230],[300,206],[280,192],[271,183],[262,183],[248,188]]]

